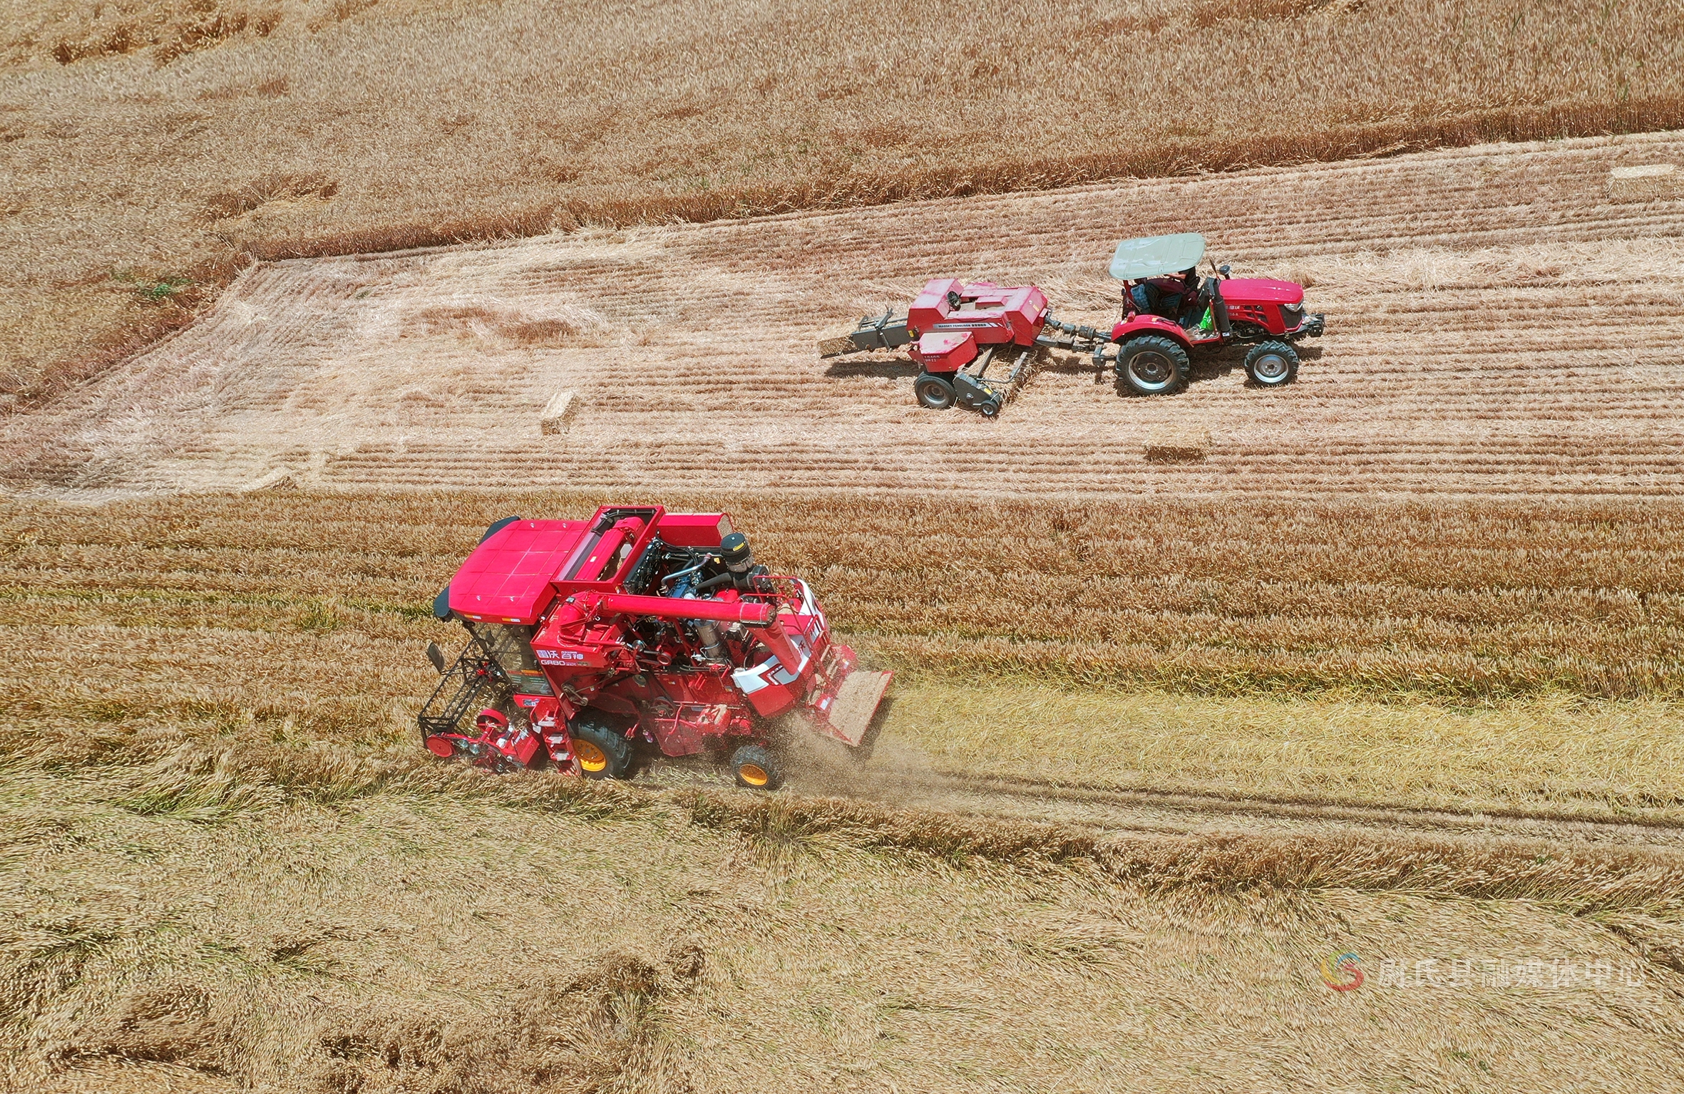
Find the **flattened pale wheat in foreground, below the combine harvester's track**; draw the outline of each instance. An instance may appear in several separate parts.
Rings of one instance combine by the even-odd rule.
[[[268,727],[118,730],[96,767],[77,752],[8,761],[12,1089],[1635,1092],[1684,1075],[1676,852],[1095,840],[391,762],[370,779]],[[1324,986],[1335,954],[1357,954],[1357,991]]]

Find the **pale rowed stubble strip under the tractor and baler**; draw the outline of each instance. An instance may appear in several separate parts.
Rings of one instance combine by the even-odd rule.
[[[259,264],[200,323],[5,426],[56,491],[621,485],[1037,495],[1677,495],[1684,202],[1610,204],[1676,135],[1480,146],[482,249]],[[1118,237],[1199,227],[1312,284],[1298,384],[1238,353],[1125,399],[1052,355],[999,421],[916,407],[904,357],[823,328],[931,274],[1108,321]],[[557,390],[578,409],[544,436]],[[1194,463],[1145,444],[1204,434]]]

